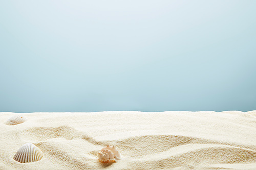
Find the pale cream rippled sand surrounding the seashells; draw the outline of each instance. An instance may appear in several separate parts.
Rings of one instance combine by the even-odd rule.
[[[23,124],[6,125],[22,114]],[[256,111],[0,113],[0,169],[256,169]],[[38,162],[13,160],[27,142]],[[121,159],[100,163],[115,145]]]

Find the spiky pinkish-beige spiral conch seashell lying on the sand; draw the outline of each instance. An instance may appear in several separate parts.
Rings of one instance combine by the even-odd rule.
[[[109,163],[120,159],[121,155],[115,146],[106,145],[106,147],[98,151],[98,157],[100,162]]]

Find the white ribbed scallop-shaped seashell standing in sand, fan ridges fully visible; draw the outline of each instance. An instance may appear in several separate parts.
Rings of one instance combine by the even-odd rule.
[[[20,163],[36,162],[42,158],[42,151],[32,143],[25,143],[20,147],[13,159]]]

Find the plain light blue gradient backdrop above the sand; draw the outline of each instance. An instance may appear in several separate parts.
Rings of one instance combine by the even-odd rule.
[[[0,111],[256,110],[256,1],[1,1]]]

